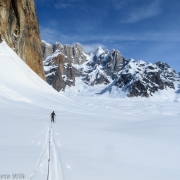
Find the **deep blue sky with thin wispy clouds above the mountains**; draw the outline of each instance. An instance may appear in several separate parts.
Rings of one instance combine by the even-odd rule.
[[[36,0],[42,39],[164,61],[180,72],[179,0]]]

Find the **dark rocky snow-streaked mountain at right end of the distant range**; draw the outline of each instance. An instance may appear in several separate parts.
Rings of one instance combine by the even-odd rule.
[[[127,91],[129,97],[149,97],[159,90],[175,89],[174,83],[179,82],[176,72],[162,62],[152,64],[131,59],[118,74],[116,85]]]

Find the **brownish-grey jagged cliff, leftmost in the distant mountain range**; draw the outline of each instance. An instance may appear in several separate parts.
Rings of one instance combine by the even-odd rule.
[[[75,85],[75,77],[81,72],[73,67],[73,64],[82,64],[86,61],[86,54],[80,44],[73,47],[61,43],[53,45],[42,41],[42,56],[47,82],[57,91],[65,90],[65,87]]]

